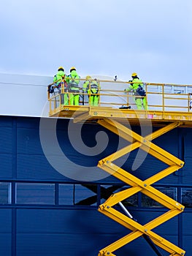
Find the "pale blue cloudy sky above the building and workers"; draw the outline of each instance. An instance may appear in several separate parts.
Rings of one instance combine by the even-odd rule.
[[[191,0],[7,0],[0,72],[192,84]]]

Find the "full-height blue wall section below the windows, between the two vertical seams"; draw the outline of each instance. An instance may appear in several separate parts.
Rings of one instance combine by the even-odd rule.
[[[138,214],[134,214],[138,217]],[[150,216],[149,216],[150,215]],[[148,212],[145,221],[157,217],[158,213]],[[144,212],[142,213],[142,217]],[[95,210],[41,210],[19,209],[17,211],[17,256],[22,255],[97,255],[104,246],[129,231]],[[158,229],[164,238],[177,244],[177,222],[171,221],[165,230]],[[164,226],[165,227],[165,226]],[[173,228],[174,227],[174,230]],[[142,247],[141,247],[142,246]],[[140,248],[143,255],[155,255],[144,240],[139,238],[116,255],[137,255]]]

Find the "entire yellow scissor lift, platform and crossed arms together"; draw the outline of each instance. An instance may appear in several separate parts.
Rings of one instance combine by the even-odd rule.
[[[153,84],[146,83],[146,85],[151,86]],[[51,101],[54,101],[55,99],[54,97],[49,97],[50,116],[74,118],[74,122],[96,122],[97,124],[100,124],[101,126],[109,129],[111,132],[114,132],[115,134],[129,142],[128,146],[121,148],[117,152],[111,154],[108,157],[105,157],[104,159],[101,159],[98,163],[98,167],[130,186],[130,188],[128,189],[111,195],[110,198],[108,198],[104,203],[99,206],[99,212],[115,220],[120,225],[127,227],[128,230],[131,230],[131,233],[128,233],[127,236],[124,236],[118,241],[115,241],[113,244],[110,244],[104,249],[101,249],[99,251],[99,256],[115,255],[113,254],[115,250],[128,244],[134,239],[139,238],[140,236],[147,238],[148,240],[146,240],[152,243],[152,247],[157,255],[161,255],[161,252],[158,251],[158,247],[164,249],[166,252],[169,252],[169,255],[185,255],[185,251],[183,249],[179,248],[178,246],[172,244],[170,241],[167,241],[165,238],[158,236],[158,234],[153,232],[153,229],[155,227],[158,227],[158,225],[161,225],[167,220],[177,216],[177,214],[182,213],[185,207],[177,201],[173,200],[172,198],[164,195],[164,193],[160,192],[158,189],[155,189],[152,186],[155,182],[160,181],[162,178],[165,178],[171,173],[174,173],[175,171],[182,168],[184,162],[177,157],[174,157],[163,148],[156,146],[152,142],[152,140],[158,138],[161,135],[164,135],[166,132],[169,132],[176,127],[192,127],[192,113],[190,112],[191,108],[189,108],[190,96],[189,94],[183,94],[179,95],[178,97],[181,100],[185,99],[188,101],[186,103],[186,107],[183,102],[181,107],[178,105],[167,106],[165,105],[166,98],[177,100],[177,95],[168,94],[167,96],[167,93],[164,92],[165,85],[158,85],[163,87],[163,89],[160,91],[160,94],[159,91],[157,93],[162,97],[163,105],[161,106],[161,110],[154,110],[153,105],[151,106],[152,110],[133,110],[125,108],[119,109],[113,108],[113,106],[103,106],[101,102],[101,91],[99,94],[100,103],[98,107],[91,107],[88,105],[87,102],[87,105],[59,105],[58,108],[52,108]],[[104,95],[106,94],[106,91],[104,91]],[[149,94],[150,91],[147,91],[147,96]],[[152,94],[154,94],[154,91],[152,92]],[[115,104],[118,105],[118,102],[116,102]],[[160,108],[160,105],[158,105],[158,108]],[[170,108],[176,108],[176,110],[169,111]],[[181,110],[179,108],[181,108]],[[185,110],[183,110],[183,108],[185,108]],[[146,123],[146,125],[147,122],[150,121],[153,126],[158,126],[161,128],[159,128],[152,134],[142,137],[136,132],[133,132],[126,125],[127,122],[129,124],[139,125],[140,121],[142,121],[142,124]],[[115,165],[114,161],[116,159],[123,157],[124,155],[128,154],[131,151],[134,151],[137,148],[141,148],[143,151],[146,151],[148,154],[151,154],[153,157],[164,162],[167,165],[166,169],[161,170],[154,176],[151,176],[145,181],[142,181],[141,179],[129,173],[128,170],[123,170],[121,167]],[[142,192],[148,197],[151,197],[162,206],[168,208],[168,211],[145,225],[139,224],[139,222],[137,222],[137,220],[135,220],[131,216],[128,210],[121,203],[121,201],[125,200],[128,197],[131,197],[131,195],[134,195],[138,192]],[[123,209],[123,212],[125,214],[113,208],[113,206],[117,204]]]

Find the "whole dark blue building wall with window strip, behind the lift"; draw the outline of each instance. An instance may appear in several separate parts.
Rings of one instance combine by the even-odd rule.
[[[53,119],[47,119],[44,120],[47,126],[43,132],[51,136]],[[130,233],[130,230],[97,211],[99,204],[112,192],[125,189],[126,186],[117,178],[105,176],[96,167],[100,159],[118,149],[118,136],[99,124],[84,124],[81,128],[79,124],[71,124],[71,135],[77,135],[79,129],[82,129],[82,141],[90,148],[96,146],[98,132],[107,134],[107,146],[102,145],[100,151],[96,149],[99,153],[88,155],[85,154],[86,148],[82,153],[72,146],[68,135],[69,120],[58,119],[58,144],[70,159],[62,168],[66,174],[70,171],[82,177],[82,180],[78,180],[70,175],[62,175],[48,161],[39,135],[41,121],[40,118],[30,117],[0,117],[0,255],[98,255],[100,249]],[[139,127],[132,129],[139,132]],[[47,146],[52,149],[53,145],[48,143],[49,138]],[[191,129],[174,129],[156,138],[153,143],[185,161],[182,170],[158,181],[155,187],[186,204],[183,214],[153,231],[185,249],[189,256],[192,255]],[[126,141],[120,142],[120,146],[126,145]],[[52,155],[58,159],[61,157],[57,155],[54,146],[53,151],[50,150]],[[142,161],[144,158],[145,161]],[[135,163],[135,159],[140,164]],[[115,163],[142,180],[166,168],[158,159],[149,154],[142,155],[138,150]],[[134,167],[136,165],[139,166],[137,170]],[[81,167],[86,168],[82,171]],[[142,225],[167,211],[153,200],[147,200],[141,193],[124,203]],[[141,250],[143,256],[155,255],[142,237],[118,249],[115,255],[139,256]],[[162,253],[167,255],[166,252]]]

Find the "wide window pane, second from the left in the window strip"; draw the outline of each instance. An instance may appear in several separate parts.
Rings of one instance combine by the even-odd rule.
[[[55,204],[55,185],[42,183],[17,183],[16,203]]]

